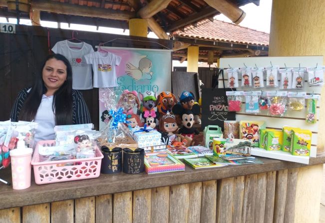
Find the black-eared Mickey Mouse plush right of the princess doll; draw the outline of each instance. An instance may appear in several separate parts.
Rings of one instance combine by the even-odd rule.
[[[200,107],[193,106],[192,110],[184,109],[182,105],[176,104],[173,107],[173,113],[180,115],[183,127],[178,130],[178,133],[183,136],[188,136],[193,139],[194,135],[198,135],[199,131],[193,128],[194,115],[200,114]]]

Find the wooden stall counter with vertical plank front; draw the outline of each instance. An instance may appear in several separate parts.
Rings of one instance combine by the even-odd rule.
[[[277,222],[290,218],[286,215],[294,213],[298,168],[322,166],[325,152],[311,158],[309,165],[260,159],[264,164],[199,170],[186,166],[185,172],[153,175],[101,174],[46,185],[36,185],[32,178],[30,188],[21,191],[0,184],[0,222]],[[9,168],[0,174],[11,181]]]

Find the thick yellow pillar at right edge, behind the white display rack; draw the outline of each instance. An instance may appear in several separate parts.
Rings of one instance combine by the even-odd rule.
[[[269,55],[325,55],[325,13],[321,8],[325,8],[324,0],[273,0]],[[320,110],[324,109],[325,97],[321,97]],[[318,117],[317,148],[321,152],[325,146],[324,112]],[[296,190],[294,222],[319,222],[322,178],[323,165],[298,169],[297,184],[290,189]]]

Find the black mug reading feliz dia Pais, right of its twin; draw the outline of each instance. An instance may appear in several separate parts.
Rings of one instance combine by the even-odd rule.
[[[144,171],[144,149],[123,149],[123,172],[126,174],[139,174]]]

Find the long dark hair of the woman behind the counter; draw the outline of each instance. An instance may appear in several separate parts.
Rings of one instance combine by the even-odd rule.
[[[67,58],[61,54],[50,54],[46,57],[23,104],[19,120],[31,121],[35,119],[42,95],[47,92],[42,78],[43,68],[46,61],[52,58],[62,61],[66,66],[66,80],[53,95],[52,109],[55,111],[55,125],[72,124],[72,68]]]

